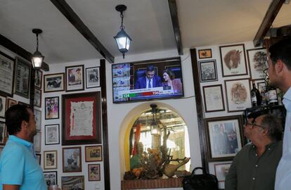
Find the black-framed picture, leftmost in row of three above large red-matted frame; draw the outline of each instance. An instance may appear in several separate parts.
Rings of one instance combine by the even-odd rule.
[[[44,75],[44,92],[64,91],[65,73]]]

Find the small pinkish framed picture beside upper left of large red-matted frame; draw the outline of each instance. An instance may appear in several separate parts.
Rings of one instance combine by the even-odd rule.
[[[59,118],[59,99],[58,96],[48,97],[45,99],[46,102],[46,120],[53,120]]]

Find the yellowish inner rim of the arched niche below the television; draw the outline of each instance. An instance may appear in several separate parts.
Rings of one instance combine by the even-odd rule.
[[[124,172],[129,170],[129,163],[127,163],[127,159],[129,160],[129,134],[131,131],[132,125],[134,125],[134,122],[136,119],[141,115],[141,113],[145,112],[146,110],[150,110],[150,104],[155,103],[157,104],[157,108],[165,108],[169,110],[173,110],[178,115],[181,116],[181,118],[184,120],[183,115],[179,112],[179,110],[176,110],[172,106],[170,106],[167,103],[162,103],[158,101],[150,101],[147,103],[142,103],[127,113],[127,115],[124,117],[124,120],[122,120],[122,124],[120,126],[119,130],[119,160],[120,160],[120,178],[123,179]],[[185,121],[185,120],[184,120]],[[186,122],[186,121],[185,121]],[[187,125],[187,123],[186,123]],[[189,138],[189,137],[188,137]],[[127,158],[127,159],[126,159]]]

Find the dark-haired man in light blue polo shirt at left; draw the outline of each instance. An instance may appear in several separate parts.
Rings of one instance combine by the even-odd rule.
[[[47,190],[32,144],[37,134],[32,110],[18,104],[5,117],[9,139],[0,158],[0,190]]]

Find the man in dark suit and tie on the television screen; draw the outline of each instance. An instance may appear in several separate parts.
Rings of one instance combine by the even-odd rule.
[[[138,77],[134,84],[134,89],[150,89],[154,87],[162,87],[162,80],[159,76],[155,75],[155,67],[148,65],[143,77]]]

